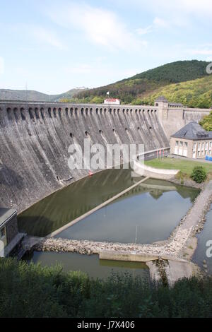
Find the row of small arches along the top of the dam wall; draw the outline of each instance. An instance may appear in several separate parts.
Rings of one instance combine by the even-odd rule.
[[[132,105],[91,105],[91,104],[69,104],[61,102],[21,102],[21,101],[0,101],[0,117],[4,117],[5,114],[2,114],[2,111],[8,117],[8,121],[23,120],[29,119],[34,120],[45,120],[45,118],[59,118],[61,117],[86,117],[92,115],[114,115],[119,116],[119,114],[128,116],[128,115],[137,115],[138,117],[148,116],[153,117],[155,114],[158,114],[158,107],[150,106],[132,106]],[[127,131],[126,127],[126,131]],[[138,130],[140,126],[138,126]],[[150,124],[149,129],[152,129]]]

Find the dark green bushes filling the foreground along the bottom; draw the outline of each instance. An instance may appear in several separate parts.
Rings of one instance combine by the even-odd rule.
[[[212,278],[170,289],[130,275],[90,280],[59,266],[1,259],[0,317],[212,317]]]

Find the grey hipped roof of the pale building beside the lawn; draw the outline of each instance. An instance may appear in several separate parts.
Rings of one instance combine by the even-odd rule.
[[[193,141],[211,139],[212,131],[206,131],[200,126],[200,124],[195,121],[191,121],[182,129],[179,129],[179,131],[177,131],[177,133],[175,133],[171,137],[184,138]]]

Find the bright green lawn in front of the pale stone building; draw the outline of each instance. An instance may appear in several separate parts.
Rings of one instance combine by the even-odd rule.
[[[195,166],[202,166],[207,173],[212,172],[212,162],[211,165],[205,162],[196,162],[193,160],[182,160],[175,158],[163,158],[163,159],[153,159],[145,162],[145,165],[155,167],[155,168],[164,168],[165,170],[180,170],[187,175],[192,174],[192,170]]]

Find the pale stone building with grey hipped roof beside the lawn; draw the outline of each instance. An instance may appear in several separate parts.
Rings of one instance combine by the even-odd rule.
[[[170,153],[187,158],[206,158],[212,155],[212,131],[205,131],[191,121],[170,138]]]

